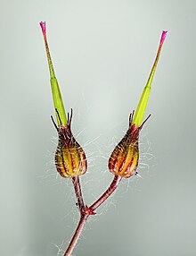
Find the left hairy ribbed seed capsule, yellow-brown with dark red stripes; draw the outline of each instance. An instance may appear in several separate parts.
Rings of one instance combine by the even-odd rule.
[[[68,115],[68,123],[65,126],[60,125],[58,128],[54,124],[59,134],[59,143],[55,153],[55,165],[59,174],[66,178],[84,175],[87,169],[86,154],[70,129],[71,118],[72,109],[70,118]]]

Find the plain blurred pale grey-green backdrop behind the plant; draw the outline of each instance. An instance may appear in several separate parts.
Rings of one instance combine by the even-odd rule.
[[[2,0],[0,21],[0,255],[62,255],[79,218],[71,181],[53,165],[57,133],[39,21],[86,150],[88,205],[113,178],[107,159],[168,30],[141,133],[142,177],[124,180],[88,219],[73,255],[196,255],[196,2]]]

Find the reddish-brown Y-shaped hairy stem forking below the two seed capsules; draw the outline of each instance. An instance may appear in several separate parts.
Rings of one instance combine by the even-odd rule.
[[[102,196],[95,201],[89,208],[85,206],[85,203],[83,201],[83,196],[81,192],[81,187],[79,183],[79,177],[72,178],[72,182],[74,184],[74,189],[76,192],[76,197],[78,199],[78,209],[80,211],[80,220],[77,226],[77,229],[69,243],[68,249],[65,252],[64,256],[70,256],[73,252],[77,242],[78,238],[82,233],[83,227],[86,224],[86,219],[89,217],[89,215],[94,215],[94,209],[97,209],[103,201],[106,201],[106,199],[118,188],[118,184],[120,183],[122,177],[115,175],[113,181],[110,183],[109,188],[102,194]]]

